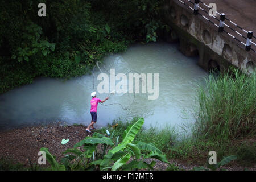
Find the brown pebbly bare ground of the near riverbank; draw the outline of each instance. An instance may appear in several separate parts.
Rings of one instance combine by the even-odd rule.
[[[63,153],[68,148],[84,139],[92,133],[85,131],[86,126],[37,126],[21,129],[13,129],[0,133],[0,158],[11,159],[14,163],[21,163],[24,167],[30,166],[38,162],[38,152],[41,147],[49,149],[52,155],[56,156],[56,160],[63,158]],[[67,144],[61,144],[62,139],[69,139]],[[153,159],[148,159],[148,163]],[[154,159],[155,160],[155,159]],[[184,170],[192,170],[196,165],[186,164],[179,160],[170,160],[174,166]],[[197,165],[198,166],[198,165]],[[155,170],[166,170],[167,164],[156,160]],[[246,167],[230,166],[225,167],[228,170],[244,170]],[[254,168],[246,168],[247,170],[256,171]]]

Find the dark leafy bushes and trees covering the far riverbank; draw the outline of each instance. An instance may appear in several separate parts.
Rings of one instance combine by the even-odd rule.
[[[46,3],[46,17],[38,4]],[[4,0],[0,5],[0,93],[35,77],[89,73],[109,53],[156,41],[162,1]]]

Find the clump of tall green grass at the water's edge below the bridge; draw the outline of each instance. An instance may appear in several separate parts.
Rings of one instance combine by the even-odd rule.
[[[210,73],[197,92],[193,134],[220,143],[255,136],[255,80],[255,72],[248,76],[238,69]]]

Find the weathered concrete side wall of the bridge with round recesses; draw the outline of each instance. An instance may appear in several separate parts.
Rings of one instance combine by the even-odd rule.
[[[189,1],[183,1],[193,7]],[[204,5],[201,4],[201,6]],[[204,13],[204,15],[209,18],[208,14]],[[230,65],[234,65],[244,72],[250,72],[251,68],[256,65],[255,52],[245,51],[243,44],[225,32],[218,32],[218,27],[202,16],[194,15],[193,11],[180,1],[167,0],[162,16],[164,22],[171,27],[171,32],[163,32],[166,40],[168,42],[179,41],[180,51],[184,55],[195,56],[198,52],[200,57],[198,64],[205,70],[215,67],[223,71]],[[232,20],[232,17],[229,19]],[[238,24],[238,22],[235,23]]]

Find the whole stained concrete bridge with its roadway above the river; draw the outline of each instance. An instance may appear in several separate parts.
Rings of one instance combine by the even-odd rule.
[[[167,0],[162,19],[171,31],[163,31],[167,42],[179,42],[186,56],[199,55],[198,64],[205,70],[220,71],[230,65],[244,72],[252,72],[256,65],[256,1],[254,0],[201,0],[199,14],[194,14],[194,0]],[[224,31],[219,32],[220,14],[209,16],[209,3],[216,3],[218,13],[225,13]],[[204,5],[205,3],[205,5]],[[236,26],[237,25],[237,26]],[[247,32],[254,31],[250,50]],[[246,43],[247,42],[247,43]],[[249,46],[247,46],[248,48]]]

